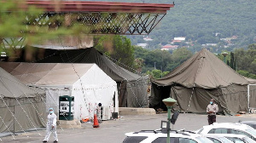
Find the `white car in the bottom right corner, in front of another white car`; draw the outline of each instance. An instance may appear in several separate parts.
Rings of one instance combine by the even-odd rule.
[[[243,134],[215,134],[215,135],[223,136],[235,143],[256,143],[256,141],[252,140],[251,138]]]

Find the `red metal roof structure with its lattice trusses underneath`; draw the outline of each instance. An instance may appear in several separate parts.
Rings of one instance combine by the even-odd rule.
[[[88,1],[26,1],[21,6],[44,9],[35,18],[28,16],[27,26],[59,28],[83,25],[84,34],[149,34],[173,4],[110,3]]]

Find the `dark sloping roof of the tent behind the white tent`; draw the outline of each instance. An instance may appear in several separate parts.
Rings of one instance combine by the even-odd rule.
[[[32,54],[32,58],[27,58]],[[116,82],[123,80],[133,81],[141,76],[129,72],[124,68],[117,66],[105,55],[95,48],[87,49],[44,49],[37,47],[23,48],[15,62],[37,62],[37,63],[96,63],[102,71],[108,74]]]

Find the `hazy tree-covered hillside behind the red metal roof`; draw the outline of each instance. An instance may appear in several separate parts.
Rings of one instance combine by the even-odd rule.
[[[90,0],[91,1],[91,0]],[[94,0],[95,1],[95,0]],[[167,0],[105,0],[108,2],[128,3],[172,3]],[[175,7],[168,11],[148,37],[149,48],[160,48],[171,43],[173,37],[186,37],[186,42],[193,43],[194,50],[201,49],[202,44],[218,43],[212,47],[214,52],[247,48],[248,44],[256,43],[256,3],[253,0],[178,0]],[[237,36],[229,42],[221,38]],[[129,36],[133,44],[145,43],[143,36]],[[253,41],[254,39],[254,41]],[[189,46],[188,43],[178,43]],[[189,46],[191,48],[191,44]],[[192,49],[192,50],[193,50]]]

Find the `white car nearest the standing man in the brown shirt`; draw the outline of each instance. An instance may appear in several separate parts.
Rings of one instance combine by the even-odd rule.
[[[256,140],[256,130],[242,123],[213,123],[203,126],[195,133],[199,134],[244,134],[249,138]]]

